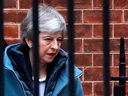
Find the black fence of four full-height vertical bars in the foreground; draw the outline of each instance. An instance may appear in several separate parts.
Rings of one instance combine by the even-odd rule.
[[[68,0],[68,49],[69,49],[69,96],[75,96],[74,92],[74,14],[73,0]],[[104,44],[104,96],[110,96],[110,74],[109,74],[109,0],[103,0],[103,44]],[[39,96],[39,65],[37,65],[38,52],[38,0],[33,0],[33,27],[34,27],[34,96]],[[3,80],[3,0],[0,3],[0,96],[4,96],[4,80]],[[36,62],[36,63],[35,63]],[[35,66],[36,65],[36,66]]]

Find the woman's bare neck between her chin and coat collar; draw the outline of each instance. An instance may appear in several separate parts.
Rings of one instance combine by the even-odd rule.
[[[31,49],[29,51],[29,58],[30,58],[32,69],[33,69],[33,66],[34,66],[34,64],[33,64],[33,52]],[[39,78],[46,77],[46,75],[47,75],[46,70],[47,70],[47,64],[39,62]]]

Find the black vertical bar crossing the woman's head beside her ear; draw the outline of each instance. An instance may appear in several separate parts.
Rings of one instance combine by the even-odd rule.
[[[33,0],[34,96],[39,96],[38,0]]]

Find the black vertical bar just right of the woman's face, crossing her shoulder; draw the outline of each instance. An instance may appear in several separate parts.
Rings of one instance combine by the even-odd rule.
[[[69,53],[69,96],[75,96],[74,86],[74,13],[73,0],[68,0],[68,53]]]

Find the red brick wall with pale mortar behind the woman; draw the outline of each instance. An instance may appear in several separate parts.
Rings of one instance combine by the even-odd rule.
[[[66,0],[40,0],[57,8],[67,21]],[[83,71],[81,77],[85,96],[103,96],[102,0],[74,0],[75,61]],[[4,0],[4,35],[7,45],[20,42],[20,22],[31,7],[32,0]],[[128,0],[110,0],[110,74],[119,76],[119,39],[125,38],[128,64]],[[67,39],[64,40],[64,49]],[[128,71],[126,71],[128,75]],[[114,85],[111,82],[111,94]],[[127,86],[128,88],[128,86]],[[128,90],[126,92],[128,94]]]

